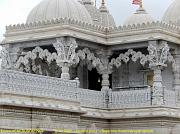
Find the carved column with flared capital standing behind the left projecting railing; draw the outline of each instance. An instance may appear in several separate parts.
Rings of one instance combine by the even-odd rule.
[[[53,46],[57,50],[57,65],[62,69],[61,78],[69,80],[69,68],[76,64],[77,55],[75,50],[78,47],[76,40],[74,38],[58,38]]]

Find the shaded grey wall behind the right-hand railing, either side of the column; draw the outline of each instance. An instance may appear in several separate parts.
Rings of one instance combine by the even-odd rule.
[[[153,75],[153,71],[143,67],[139,63],[129,62],[123,64],[113,72],[113,88],[115,87],[134,87],[148,85],[148,75]],[[162,71],[163,85],[166,89],[173,89],[173,73],[171,65]]]

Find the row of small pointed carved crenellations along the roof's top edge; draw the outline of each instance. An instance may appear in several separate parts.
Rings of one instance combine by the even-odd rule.
[[[134,30],[140,30],[140,29],[146,29],[146,28],[151,28],[151,27],[159,27],[163,28],[166,30],[169,30],[171,32],[180,32],[180,27],[174,24],[168,24],[162,21],[154,21],[154,22],[147,22],[147,23],[142,23],[142,24],[133,24],[133,25],[122,25],[118,27],[103,27],[100,25],[95,25],[95,24],[89,24],[86,22],[78,21],[75,19],[70,19],[70,18],[59,18],[59,19],[52,19],[52,20],[45,20],[45,21],[38,21],[38,22],[33,22],[33,23],[22,23],[22,24],[15,24],[15,25],[9,25],[6,26],[6,31],[7,32],[13,32],[13,31],[22,31],[22,30],[29,30],[29,29],[36,29],[36,28],[41,28],[43,26],[53,26],[61,24],[63,25],[75,25],[78,27],[81,27],[83,29],[88,29],[88,30],[95,30],[97,32],[104,32],[104,33],[117,33],[117,32],[125,32],[125,31],[134,31]]]

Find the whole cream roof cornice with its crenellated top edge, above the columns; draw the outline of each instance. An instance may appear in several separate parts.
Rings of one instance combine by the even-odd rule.
[[[68,31],[64,31],[66,29]],[[45,36],[41,35],[42,31],[46,32]],[[61,35],[56,35],[56,32],[60,33],[61,31]],[[33,37],[34,33],[36,33],[35,37]],[[140,35],[145,34],[148,35],[148,37],[145,38],[143,36],[143,40],[168,39],[168,41],[170,42],[175,41],[175,43],[180,43],[180,27],[161,21],[134,25],[123,25],[119,27],[103,27],[76,21],[74,19],[60,18],[53,19],[51,21],[7,26],[5,40],[1,42],[1,45],[27,40],[48,39],[54,38],[56,36],[74,37],[74,35],[78,35],[77,38],[85,39],[88,41],[94,41],[94,38],[96,38],[98,43],[113,45],[114,43],[122,43],[129,37],[131,37],[132,39],[130,42],[137,40],[141,41],[142,38],[140,37]],[[136,37],[133,38],[133,36]]]

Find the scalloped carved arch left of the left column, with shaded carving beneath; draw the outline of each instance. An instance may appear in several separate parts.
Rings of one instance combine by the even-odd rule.
[[[15,64],[15,68],[27,73],[34,72],[49,76],[48,68],[56,56],[56,53],[51,54],[47,49],[43,50],[40,47],[36,47],[32,51],[27,52],[24,56],[20,56]]]

